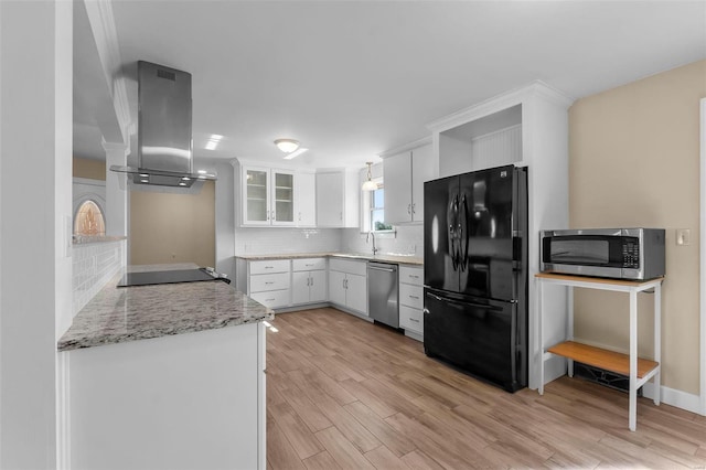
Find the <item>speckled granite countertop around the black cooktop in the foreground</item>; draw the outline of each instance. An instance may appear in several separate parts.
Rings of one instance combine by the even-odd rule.
[[[149,265],[129,273],[195,269],[194,264]],[[124,271],[125,273],[125,271]],[[116,287],[111,279],[77,314],[58,351],[191,333],[271,320],[272,310],[231,285],[214,280]]]

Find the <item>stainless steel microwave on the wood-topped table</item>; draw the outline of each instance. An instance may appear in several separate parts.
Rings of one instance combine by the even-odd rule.
[[[645,280],[664,276],[663,228],[542,231],[539,269]]]

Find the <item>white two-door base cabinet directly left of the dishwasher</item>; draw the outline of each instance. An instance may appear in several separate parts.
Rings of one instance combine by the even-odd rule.
[[[329,300],[367,317],[367,261],[331,258]]]

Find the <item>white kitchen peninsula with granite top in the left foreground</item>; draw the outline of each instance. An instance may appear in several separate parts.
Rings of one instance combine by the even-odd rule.
[[[118,288],[121,275],[57,343],[64,466],[264,469],[271,310],[217,280]]]

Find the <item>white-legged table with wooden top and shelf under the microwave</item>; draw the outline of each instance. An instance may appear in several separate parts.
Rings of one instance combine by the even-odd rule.
[[[662,328],[662,281],[664,278],[655,278],[645,281],[631,281],[621,279],[603,279],[584,276],[555,275],[539,273],[535,275],[539,285],[539,344],[542,345],[542,360],[539,361],[539,394],[544,394],[544,363],[553,355],[568,359],[568,375],[574,376],[574,361],[596,367],[605,368],[616,374],[625,375],[630,380],[630,408],[628,426],[635,430],[638,409],[638,388],[650,380],[654,384],[654,404],[660,405],[660,372],[661,372],[661,328]],[[568,321],[566,341],[544,349],[543,312],[544,286],[557,285],[569,288]],[[574,340],[574,288],[612,290],[630,295],[630,353],[621,354]],[[654,289],[654,361],[638,357],[638,292]]]

